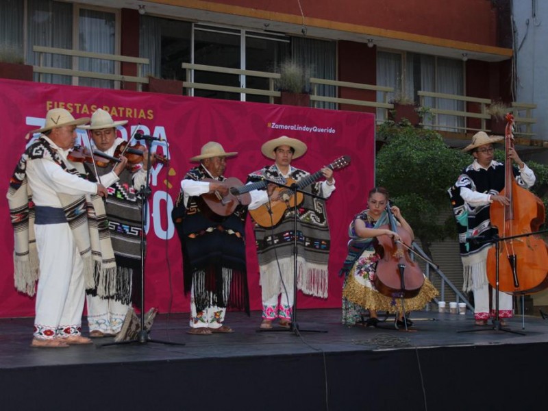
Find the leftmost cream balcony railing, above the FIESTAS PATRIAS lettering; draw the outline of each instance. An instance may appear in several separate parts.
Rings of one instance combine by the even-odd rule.
[[[129,57],[127,55],[118,55],[118,54],[105,54],[105,53],[90,53],[89,51],[79,51],[73,49],[58,49],[56,47],[43,47],[43,46],[33,46],[32,51],[38,53],[38,65],[34,66],[34,73],[39,73],[40,81],[42,74],[53,74],[53,75],[68,75],[71,77],[86,77],[90,79],[101,79],[101,80],[112,80],[114,82],[130,82],[137,83],[139,87],[142,84],[148,84],[149,77],[139,77],[133,75],[121,75],[115,73],[98,73],[96,71],[82,71],[77,69],[64,69],[60,67],[51,67],[45,66],[45,55],[46,54],[60,54],[60,55],[69,55],[73,58],[73,67],[77,67],[77,58],[93,58],[99,60],[111,60],[116,62],[114,71],[116,73],[120,72],[120,63],[134,63],[137,64],[138,70],[137,73],[140,73],[141,65],[148,65],[149,59],[147,58],[138,58],[138,57]],[[119,88],[119,85],[116,87]]]

